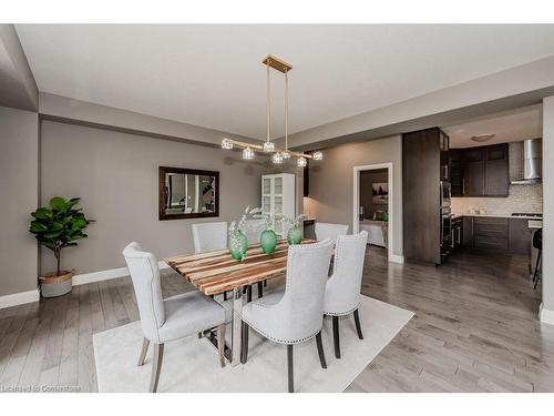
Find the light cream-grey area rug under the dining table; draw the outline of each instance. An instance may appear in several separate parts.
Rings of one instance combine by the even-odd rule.
[[[343,392],[410,321],[413,313],[362,296],[358,339],[352,316],[340,318],[341,359],[335,358],[330,317],[322,338],[327,369],[319,365],[315,338],[295,345],[296,392]],[[228,331],[229,332],[229,331]],[[94,358],[100,392],[147,392],[152,347],[145,364],[136,365],[142,345],[138,322],[95,334]],[[217,351],[196,335],[167,343],[158,392],[281,393],[287,390],[287,348],[250,329],[248,362],[219,367]]]

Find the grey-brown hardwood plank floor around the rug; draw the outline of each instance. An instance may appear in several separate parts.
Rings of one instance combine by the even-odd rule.
[[[362,293],[416,316],[347,392],[554,392],[554,326],[540,324],[526,272],[519,256],[463,252],[435,268],[371,247]],[[164,297],[192,288],[162,275]],[[0,310],[0,390],[98,390],[92,334],[136,319],[130,277]]]

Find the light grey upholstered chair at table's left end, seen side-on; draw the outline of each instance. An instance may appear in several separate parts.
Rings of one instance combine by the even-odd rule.
[[[199,331],[217,327],[219,364],[225,366],[225,308],[201,292],[188,292],[162,298],[160,270],[152,253],[143,252],[137,243],[123,250],[127,263],[144,335],[138,365],[144,364],[150,343],[154,343],[150,392],[157,390],[165,343]]]

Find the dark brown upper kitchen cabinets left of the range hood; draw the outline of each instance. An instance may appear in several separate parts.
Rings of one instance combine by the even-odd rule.
[[[452,196],[507,196],[507,144],[450,151]]]

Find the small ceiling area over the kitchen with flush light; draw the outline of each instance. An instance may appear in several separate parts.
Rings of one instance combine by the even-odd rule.
[[[452,148],[472,148],[494,143],[520,142],[543,136],[542,104],[489,114],[462,124],[443,128]],[[494,134],[483,143],[471,140],[481,134]]]

